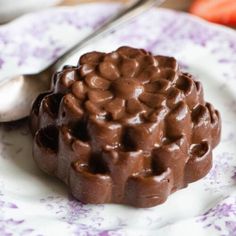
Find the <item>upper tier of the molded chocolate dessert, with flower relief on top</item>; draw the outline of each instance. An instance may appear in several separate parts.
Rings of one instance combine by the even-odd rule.
[[[46,113],[96,151],[150,151],[181,136],[199,143],[194,124],[217,120],[200,82],[173,57],[143,49],[87,53],[54,75],[52,91],[43,99]]]

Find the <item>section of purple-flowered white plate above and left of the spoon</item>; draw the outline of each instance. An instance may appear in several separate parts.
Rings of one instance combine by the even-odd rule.
[[[110,11],[102,5],[96,8],[90,8],[89,5],[59,8],[57,11],[29,14],[0,27],[0,80],[16,73],[9,72],[9,67],[17,67],[17,73],[42,70],[117,9],[117,5],[111,5]],[[88,11],[92,18],[86,17]],[[65,31],[69,31],[70,37],[63,37]]]

